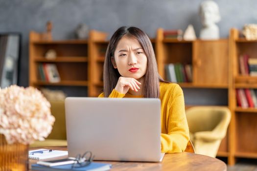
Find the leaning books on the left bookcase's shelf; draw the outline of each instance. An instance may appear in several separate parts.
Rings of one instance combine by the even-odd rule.
[[[38,64],[39,76],[42,81],[58,83],[61,81],[56,64]]]

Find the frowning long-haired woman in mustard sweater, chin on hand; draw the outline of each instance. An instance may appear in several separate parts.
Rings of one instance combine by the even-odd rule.
[[[160,98],[162,152],[182,152],[189,140],[183,91],[158,74],[148,36],[137,27],[120,27],[104,61],[104,90],[99,97]]]

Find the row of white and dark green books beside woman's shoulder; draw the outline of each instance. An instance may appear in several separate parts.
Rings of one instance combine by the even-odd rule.
[[[172,83],[190,83],[192,82],[191,64],[166,64],[166,79]]]

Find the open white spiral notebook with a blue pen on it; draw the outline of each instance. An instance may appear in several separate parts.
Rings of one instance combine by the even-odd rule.
[[[63,150],[52,150],[51,152],[31,154],[31,152],[42,151],[42,150],[49,150],[49,149],[29,150],[28,158],[32,159],[32,160],[44,160],[44,159],[48,159],[48,158],[68,156],[68,151],[63,151]]]

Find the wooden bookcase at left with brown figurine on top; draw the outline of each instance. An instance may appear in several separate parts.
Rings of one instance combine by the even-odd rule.
[[[92,43],[107,43],[107,34],[91,30],[90,35],[89,40],[46,41],[40,39],[39,33],[31,31],[29,36],[29,85],[37,88],[85,86],[88,89],[87,95],[92,96],[90,92],[94,86],[92,73],[97,72],[97,68],[90,66],[92,64],[92,50],[90,48],[94,46]],[[45,58],[49,49],[56,51],[56,59],[48,60]],[[99,57],[97,60],[103,63],[104,57]],[[50,83],[40,79],[38,65],[44,63],[56,64],[61,78],[60,82]]]

